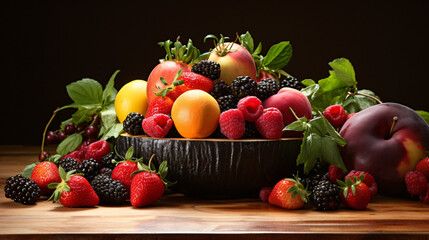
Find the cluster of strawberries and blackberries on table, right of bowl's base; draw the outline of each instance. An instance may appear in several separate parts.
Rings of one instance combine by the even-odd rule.
[[[283,179],[274,188],[264,187],[259,197],[263,202],[286,209],[307,204],[318,211],[333,211],[341,204],[365,209],[377,191],[377,183],[369,173],[352,170],[345,175],[340,168],[318,161],[304,178]]]

